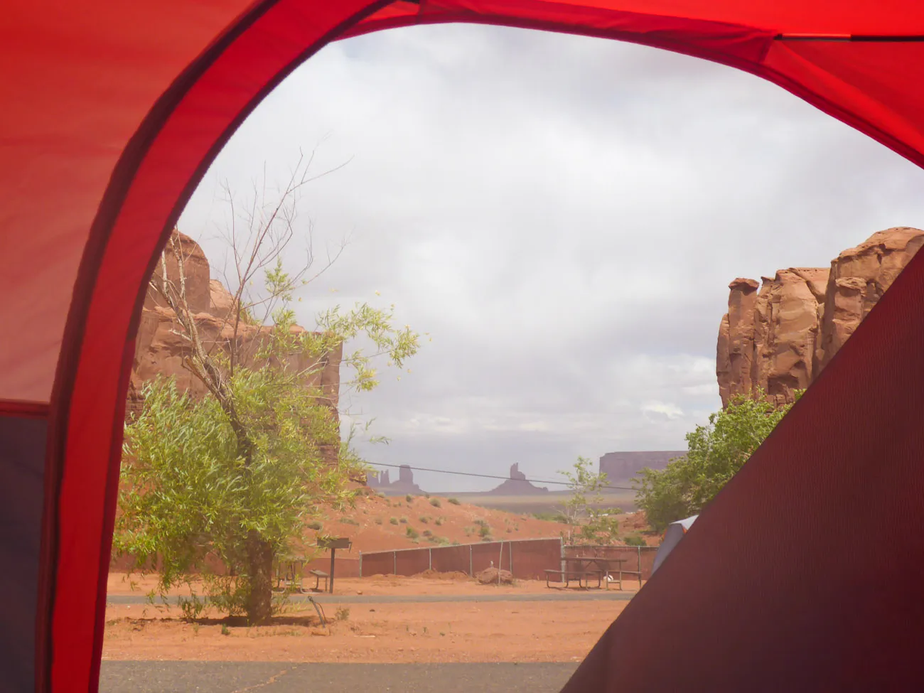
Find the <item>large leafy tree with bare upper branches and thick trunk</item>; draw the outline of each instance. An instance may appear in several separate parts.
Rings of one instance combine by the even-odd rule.
[[[133,556],[136,569],[158,569],[152,599],[192,587],[198,574],[215,606],[251,624],[274,612],[274,559],[319,505],[349,501],[348,482],[362,471],[350,447],[355,431],[341,443],[335,410],[312,383],[342,355],[353,377],[341,385],[371,390],[378,384],[372,359],[402,367],[419,344],[409,327],[393,325],[394,307],[337,306],[319,317],[316,332],[296,326],[293,302],[310,283],[313,256],[295,273],[282,256],[296,233],[299,190],[317,177],[309,166],[299,159],[278,199],[255,200],[236,217],[227,236],[233,294],[217,339],[189,308],[187,257],[172,237],[150,288],[173,310],[175,332],[188,343],[183,365],[207,395],[194,400],[173,383],[149,383],[125,432],[116,553]],[[233,197],[229,203],[234,212]],[[358,337],[371,349],[344,353]],[[201,611],[193,595],[188,615]]]

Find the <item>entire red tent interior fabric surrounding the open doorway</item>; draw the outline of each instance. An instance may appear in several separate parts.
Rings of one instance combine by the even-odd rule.
[[[747,70],[924,164],[917,0],[6,6],[0,586],[17,603],[0,605],[0,669],[16,689],[96,687],[144,283],[215,153],[325,43],[449,21],[645,43]],[[917,687],[922,263],[908,265],[567,690]]]

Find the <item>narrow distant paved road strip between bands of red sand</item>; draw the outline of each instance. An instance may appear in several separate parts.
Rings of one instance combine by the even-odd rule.
[[[308,602],[314,598],[319,604],[419,604],[430,602],[626,602],[636,592],[619,590],[549,591],[536,594],[294,594],[290,602]],[[146,604],[143,594],[110,594],[110,604]]]

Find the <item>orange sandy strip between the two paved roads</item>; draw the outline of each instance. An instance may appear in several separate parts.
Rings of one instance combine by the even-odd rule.
[[[327,628],[311,609],[270,626],[190,625],[176,609],[106,609],[103,659],[274,662],[576,662],[627,602],[350,604]],[[324,612],[336,618],[338,607]]]

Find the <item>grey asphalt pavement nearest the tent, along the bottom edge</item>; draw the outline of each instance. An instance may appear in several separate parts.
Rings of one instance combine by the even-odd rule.
[[[101,693],[558,693],[577,663],[103,662]]]

